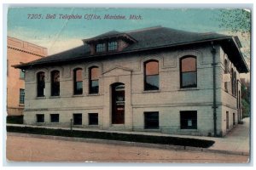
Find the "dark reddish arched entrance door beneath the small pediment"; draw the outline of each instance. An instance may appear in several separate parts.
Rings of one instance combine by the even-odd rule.
[[[112,124],[125,123],[125,84],[112,85]]]

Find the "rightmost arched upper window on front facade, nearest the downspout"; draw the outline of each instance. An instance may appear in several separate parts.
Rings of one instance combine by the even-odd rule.
[[[197,71],[195,56],[185,56],[180,59],[180,87],[197,87]]]

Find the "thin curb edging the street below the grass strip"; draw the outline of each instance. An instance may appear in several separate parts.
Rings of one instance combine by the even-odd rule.
[[[7,133],[7,134],[9,136],[31,137],[31,138],[38,138],[38,139],[57,139],[57,140],[96,143],[96,144],[121,144],[126,146],[158,148],[158,149],[165,149],[165,150],[188,150],[188,151],[220,153],[220,154],[227,154],[227,155],[249,156],[248,152],[242,152],[242,151],[212,150],[212,149],[198,148],[198,147],[192,147],[192,146],[173,145],[173,144],[148,144],[148,143],[119,141],[119,140],[84,139],[84,138],[40,135],[40,134],[30,134],[30,133]]]

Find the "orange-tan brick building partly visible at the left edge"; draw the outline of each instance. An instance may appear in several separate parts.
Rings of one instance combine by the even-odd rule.
[[[7,113],[22,115],[25,102],[25,72],[11,65],[20,65],[47,55],[47,48],[7,37]]]

